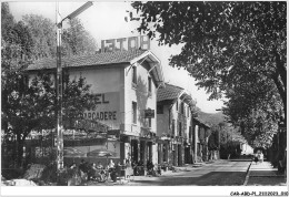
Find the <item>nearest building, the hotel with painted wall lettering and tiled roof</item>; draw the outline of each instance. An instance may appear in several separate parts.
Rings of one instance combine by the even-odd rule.
[[[39,70],[56,73],[56,60],[40,60],[28,68],[30,75]],[[62,68],[71,79],[84,76],[91,91],[98,94],[99,104],[86,111],[83,117],[93,120],[118,134],[108,148],[117,153],[116,159],[158,162],[157,90],[163,85],[161,64],[149,50],[97,53],[62,60]],[[98,137],[98,136],[96,136]],[[71,144],[70,144],[71,145]],[[94,144],[74,143],[89,152],[106,148],[106,139]],[[66,146],[66,142],[64,142]]]

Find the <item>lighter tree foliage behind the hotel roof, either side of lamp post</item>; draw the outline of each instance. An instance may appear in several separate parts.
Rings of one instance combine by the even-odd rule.
[[[37,14],[23,17],[24,23],[32,32],[34,59],[56,56],[56,24],[47,18]],[[63,29],[61,53],[63,56],[76,54],[93,54],[97,50],[96,40],[83,28],[79,19],[69,21],[69,28]]]

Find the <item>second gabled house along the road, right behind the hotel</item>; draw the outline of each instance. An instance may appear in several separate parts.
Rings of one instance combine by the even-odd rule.
[[[192,163],[192,114],[196,103],[182,87],[166,84],[157,98],[158,162],[173,166]]]

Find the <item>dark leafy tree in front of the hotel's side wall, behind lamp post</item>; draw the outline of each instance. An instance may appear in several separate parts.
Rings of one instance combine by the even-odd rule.
[[[22,75],[24,77],[24,74]],[[31,131],[52,129],[57,124],[54,81],[48,74],[39,74],[29,85],[12,89],[8,94],[2,121],[8,122],[10,129],[6,134],[14,135],[18,143],[18,165],[21,164],[23,143]],[[77,96],[76,96],[77,95]],[[63,121],[76,117],[86,108],[96,105],[90,85],[83,77],[69,81],[63,92]]]

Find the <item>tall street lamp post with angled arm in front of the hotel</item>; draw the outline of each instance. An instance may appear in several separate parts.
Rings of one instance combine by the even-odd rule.
[[[70,13],[61,20],[59,15],[59,4],[57,3],[57,169],[63,169],[63,124],[62,124],[62,68],[61,68],[61,32],[62,22],[66,19],[73,19],[92,6],[91,1]]]

